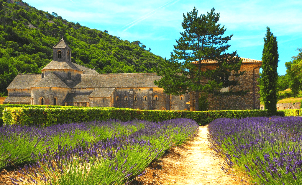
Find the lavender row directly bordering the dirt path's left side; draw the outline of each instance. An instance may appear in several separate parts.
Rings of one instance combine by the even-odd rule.
[[[190,119],[141,121],[138,125],[141,129],[131,134],[114,134],[96,143],[85,142],[86,147],[59,146],[33,156],[41,159],[35,164],[34,172],[26,167],[21,170],[25,178],[13,179],[13,183],[127,184],[172,145],[181,144],[198,131],[198,124]]]

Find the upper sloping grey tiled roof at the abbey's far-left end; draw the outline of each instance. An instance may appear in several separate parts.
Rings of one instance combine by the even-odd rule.
[[[7,89],[30,89],[41,78],[41,74],[18,74]]]

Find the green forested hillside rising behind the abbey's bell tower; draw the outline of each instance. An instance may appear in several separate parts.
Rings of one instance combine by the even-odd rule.
[[[0,0],[0,93],[18,73],[40,73],[61,39],[72,49],[72,62],[99,73],[155,72],[163,58],[139,41],[69,22],[20,0]]]

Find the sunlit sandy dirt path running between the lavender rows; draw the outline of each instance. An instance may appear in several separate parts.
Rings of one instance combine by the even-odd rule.
[[[241,177],[221,170],[220,160],[212,156],[208,147],[207,126],[200,126],[199,130],[198,136],[190,143],[172,148],[158,162],[150,165],[145,175],[137,177],[131,184],[245,184],[240,181]]]

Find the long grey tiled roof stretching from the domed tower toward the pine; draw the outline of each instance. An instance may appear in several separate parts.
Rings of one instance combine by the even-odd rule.
[[[74,88],[136,88],[157,87],[154,80],[161,79],[156,73],[88,74]]]

